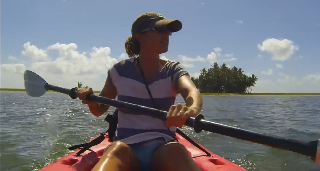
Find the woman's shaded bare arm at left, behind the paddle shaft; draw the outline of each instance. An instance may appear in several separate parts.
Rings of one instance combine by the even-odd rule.
[[[109,76],[108,76],[99,96],[106,97],[109,99],[115,99],[117,94],[118,94],[117,89],[110,82]],[[89,104],[89,109],[90,109],[91,113],[97,117],[99,117],[99,116],[103,115],[105,112],[107,112],[109,107],[110,107],[109,105],[105,105],[105,104],[101,104],[101,103]]]

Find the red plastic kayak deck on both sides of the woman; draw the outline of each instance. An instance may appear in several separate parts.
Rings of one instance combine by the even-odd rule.
[[[39,171],[91,171],[102,156],[104,149],[110,144],[108,142],[108,134],[105,134],[104,136],[105,139],[102,143],[92,146],[90,150],[85,151],[79,157],[75,156],[80,150],[77,149],[75,152],[61,157]],[[213,154],[199,143],[197,144],[208,151],[212,155],[211,157],[208,157],[203,151],[199,150],[179,134],[176,134],[176,138],[179,143],[183,144],[188,149],[189,155],[202,171],[247,171],[229,160]]]

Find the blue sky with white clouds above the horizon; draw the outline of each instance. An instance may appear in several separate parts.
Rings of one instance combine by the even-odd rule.
[[[1,0],[1,88],[24,88],[32,70],[101,90],[128,58],[132,22],[151,11],[182,22],[161,58],[191,76],[218,62],[255,74],[252,93],[320,93],[319,0]]]

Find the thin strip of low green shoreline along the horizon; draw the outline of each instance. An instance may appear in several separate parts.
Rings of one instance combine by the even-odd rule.
[[[0,91],[5,92],[25,92],[20,88],[1,88]],[[49,90],[48,92],[54,92]],[[93,91],[95,94],[100,91]],[[235,93],[201,93],[202,96],[257,96],[257,95],[273,95],[273,96],[320,96],[320,93],[252,93],[252,94],[235,94]]]

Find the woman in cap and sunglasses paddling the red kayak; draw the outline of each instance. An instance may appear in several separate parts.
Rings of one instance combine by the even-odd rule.
[[[186,119],[202,108],[200,92],[178,61],[165,61],[159,54],[168,51],[169,36],[182,28],[179,20],[167,20],[156,12],[140,15],[132,24],[132,36],[125,42],[129,59],[108,70],[100,96],[168,111],[164,123],[134,111],[118,111],[114,142],[92,171],[200,171],[187,149],[174,136]],[[95,116],[109,106],[86,101],[92,88],[78,89],[78,97]],[[174,105],[177,94],[186,105]],[[130,114],[131,113],[131,114]]]

